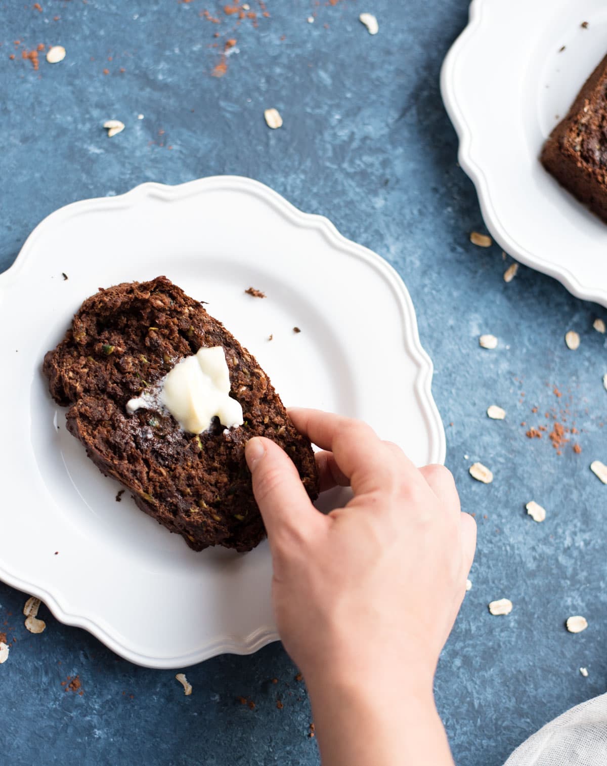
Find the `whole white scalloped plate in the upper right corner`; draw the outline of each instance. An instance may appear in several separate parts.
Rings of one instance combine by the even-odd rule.
[[[565,116],[605,53],[604,0],[473,0],[441,71],[459,162],[494,239],[573,295],[603,306],[607,224],[537,158],[557,115]]]

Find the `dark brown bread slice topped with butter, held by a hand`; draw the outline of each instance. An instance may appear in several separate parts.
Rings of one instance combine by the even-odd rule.
[[[224,347],[243,426],[224,434],[216,418],[195,436],[165,411],[126,414],[126,402],[181,358],[215,345]],[[54,400],[70,405],[67,428],[93,463],[196,551],[209,545],[248,551],[265,534],[244,460],[252,436],[280,444],[309,496],[318,496],[312,447],[255,358],[166,277],[87,298],[64,340],[44,357],[44,375]]]

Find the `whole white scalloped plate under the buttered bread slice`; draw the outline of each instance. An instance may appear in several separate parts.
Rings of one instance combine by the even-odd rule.
[[[144,184],[43,221],[0,276],[10,434],[0,445],[0,578],[126,659],[172,668],[276,640],[267,542],[244,555],[194,553],[128,493],[116,502],[119,485],[67,434],[41,375],[86,296],[158,274],[209,302],[286,404],[362,417],[416,463],[442,462],[445,435],[400,277],[266,186],[234,176]]]

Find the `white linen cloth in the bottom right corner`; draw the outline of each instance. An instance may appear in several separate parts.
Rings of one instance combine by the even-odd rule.
[[[582,702],[540,728],[504,766],[605,766],[607,694]]]

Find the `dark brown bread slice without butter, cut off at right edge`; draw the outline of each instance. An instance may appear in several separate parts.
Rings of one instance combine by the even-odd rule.
[[[607,56],[544,144],[547,171],[607,222]]]

